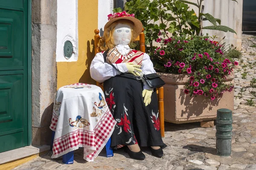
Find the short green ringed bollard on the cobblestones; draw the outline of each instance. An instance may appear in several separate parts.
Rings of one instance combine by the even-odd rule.
[[[232,122],[232,111],[218,109],[216,119],[216,154],[218,156],[231,155]]]

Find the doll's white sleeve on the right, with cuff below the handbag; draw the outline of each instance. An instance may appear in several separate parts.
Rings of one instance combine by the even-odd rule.
[[[149,55],[146,53],[144,53],[141,69],[142,69],[143,74],[145,74],[145,75],[151,74],[151,73],[156,73],[156,71],[154,70],[153,63],[151,62]],[[144,83],[143,89],[153,91],[153,88],[150,88],[146,83]]]

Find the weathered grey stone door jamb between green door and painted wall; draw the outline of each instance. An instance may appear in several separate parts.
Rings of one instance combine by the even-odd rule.
[[[56,92],[56,0],[32,0],[32,144],[50,144]]]

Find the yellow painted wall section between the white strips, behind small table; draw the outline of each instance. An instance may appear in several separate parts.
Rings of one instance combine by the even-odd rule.
[[[98,0],[78,0],[79,54],[77,62],[57,62],[57,88],[77,82],[96,84],[90,77],[94,30],[98,28]]]

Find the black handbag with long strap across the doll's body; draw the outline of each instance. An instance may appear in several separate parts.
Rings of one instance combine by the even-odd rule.
[[[104,57],[104,61],[106,62],[106,57],[107,57],[108,51],[105,51],[105,53],[103,54]],[[112,63],[108,63],[110,64],[114,69],[116,69],[116,71],[118,71],[120,74],[127,74],[127,73],[123,73],[121,71],[119,71]],[[130,77],[134,77],[137,80],[142,79],[143,82],[145,82],[150,88],[159,88],[162,87],[163,85],[165,85],[166,83],[163,81],[163,79],[160,78],[159,74],[156,73],[152,73],[152,74],[143,74],[143,77],[135,77],[132,74],[128,74]]]

